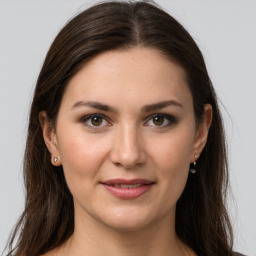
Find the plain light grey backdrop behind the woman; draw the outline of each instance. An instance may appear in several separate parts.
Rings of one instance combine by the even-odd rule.
[[[67,20],[96,2],[0,0],[0,252],[23,209],[28,109],[45,54]],[[235,249],[256,255],[256,1],[156,2],[204,54],[224,105]]]

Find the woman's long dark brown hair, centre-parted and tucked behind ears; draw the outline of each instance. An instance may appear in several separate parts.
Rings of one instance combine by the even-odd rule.
[[[73,198],[62,167],[51,165],[38,114],[55,123],[69,80],[90,58],[113,49],[160,50],[186,71],[195,118],[213,107],[208,141],[177,202],[176,233],[197,255],[231,255],[232,229],[225,208],[228,184],[222,118],[203,56],[190,34],[151,2],[105,2],[73,18],[57,35],[39,74],[24,156],[26,204],[9,242],[9,254],[37,256],[62,245],[74,231]],[[17,238],[16,246],[13,246]]]

